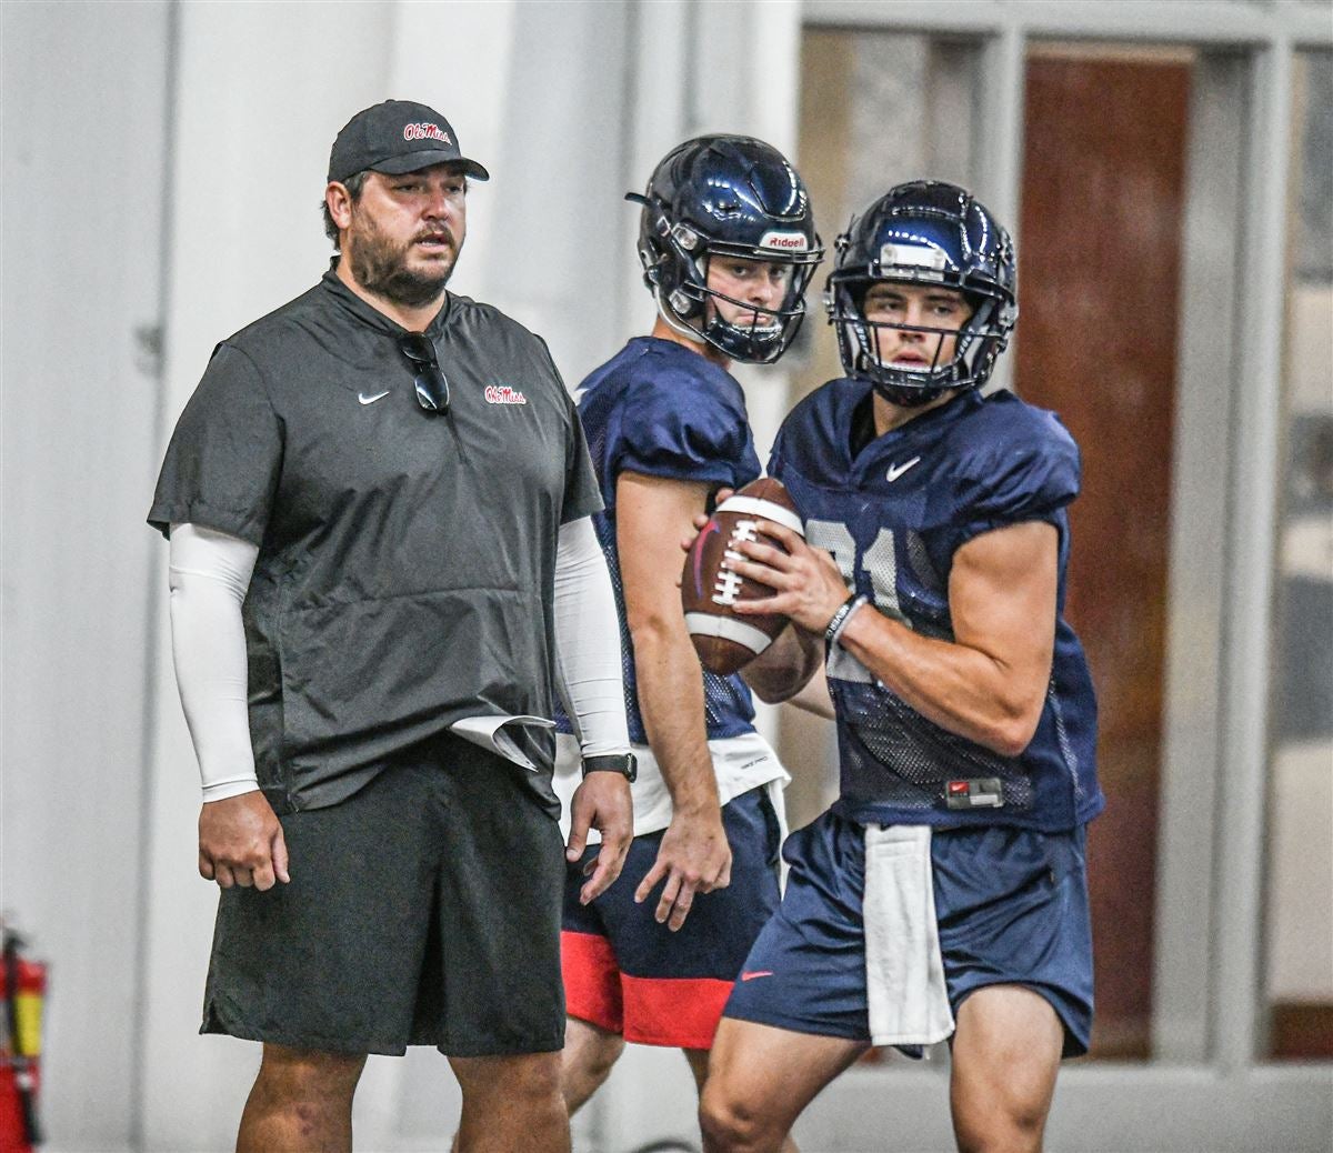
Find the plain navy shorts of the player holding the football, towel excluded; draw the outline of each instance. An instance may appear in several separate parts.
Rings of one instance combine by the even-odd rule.
[[[745,958],[725,1016],[869,1041],[861,894],[865,828],[824,813],[786,838],[777,916]],[[986,985],[1022,985],[1065,1026],[1065,1057],[1092,1033],[1092,929],[1084,829],[936,829],[934,906],[957,1017]]]

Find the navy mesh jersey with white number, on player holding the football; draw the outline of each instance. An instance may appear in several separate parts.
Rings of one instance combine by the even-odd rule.
[[[922,636],[953,640],[949,572],[973,537],[1020,521],[1060,533],[1056,646],[1032,744],[1005,757],[922,717],[849,653],[829,654],[841,792],[836,809],[880,824],[1068,829],[1094,817],[1097,705],[1064,620],[1078,448],[1053,413],[1013,393],[965,392],[852,453],[870,385],[834,380],[788,416],[769,473],[792,492],[806,539],[856,593]]]

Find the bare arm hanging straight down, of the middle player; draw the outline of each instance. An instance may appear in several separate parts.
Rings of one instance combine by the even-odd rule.
[[[730,848],[704,726],[704,681],[677,586],[677,541],[706,499],[702,483],[632,472],[616,483],[617,549],[639,708],[673,808],[657,862],[636,897],[647,898],[665,876],[657,918],[669,916],[672,928],[684,924],[696,889],[721,888],[730,877]]]

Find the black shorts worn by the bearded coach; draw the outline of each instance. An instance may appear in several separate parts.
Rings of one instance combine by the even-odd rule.
[[[339,1053],[563,1048],[563,841],[528,772],[448,736],[281,816],[291,884],[221,892],[200,1032]]]

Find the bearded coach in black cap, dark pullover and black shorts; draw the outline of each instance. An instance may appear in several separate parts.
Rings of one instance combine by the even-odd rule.
[[[569,1148],[565,857],[597,828],[583,898],[616,878],[633,760],[577,413],[537,336],[445,291],[487,179],[423,104],[353,116],[329,271],[213,351],[148,515],[221,888],[201,1032],[264,1046],[241,1150],[351,1149],[367,1054],[407,1045],[448,1057],[460,1149]]]

